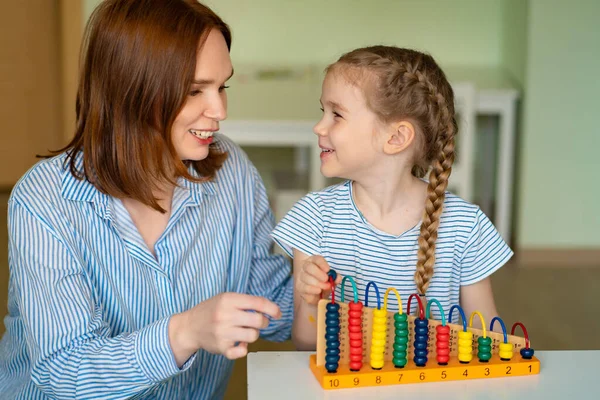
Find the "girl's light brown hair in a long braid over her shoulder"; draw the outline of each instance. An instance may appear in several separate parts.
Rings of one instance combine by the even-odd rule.
[[[408,120],[417,128],[412,173],[429,173],[421,223],[415,282],[425,295],[433,276],[435,245],[458,131],[454,92],[433,57],[392,46],[365,47],[344,54],[328,68],[362,89],[367,105],[381,121]]]

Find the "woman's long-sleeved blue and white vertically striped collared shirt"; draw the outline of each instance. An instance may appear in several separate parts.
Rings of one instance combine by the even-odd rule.
[[[167,326],[223,292],[274,301],[282,318],[262,337],[290,336],[290,267],[272,253],[264,186],[236,145],[215,142],[227,160],[211,182],[180,179],[156,258],[122,203],[76,180],[64,154],[19,181],[8,208],[2,399],[220,398],[233,362],[199,351],[179,369]]]

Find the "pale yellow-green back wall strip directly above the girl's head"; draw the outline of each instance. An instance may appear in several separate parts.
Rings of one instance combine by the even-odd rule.
[[[99,0],[85,0],[85,14]],[[448,65],[500,62],[504,0],[207,0],[233,30],[235,63],[328,64],[373,43],[426,49]]]

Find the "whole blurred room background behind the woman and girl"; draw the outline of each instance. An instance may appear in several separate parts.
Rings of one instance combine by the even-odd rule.
[[[73,134],[79,44],[99,3],[0,5],[0,315],[8,196],[35,154]],[[600,349],[600,1],[206,4],[233,31],[236,72],[222,133],[256,164],[277,219],[307,191],[333,183],[319,174],[312,133],[323,69],[365,45],[429,52],[456,93],[450,189],[480,205],[515,250],[492,277],[500,314],[522,321],[536,350]],[[289,342],[251,347],[292,349]],[[236,363],[227,398],[245,398],[245,365]]]

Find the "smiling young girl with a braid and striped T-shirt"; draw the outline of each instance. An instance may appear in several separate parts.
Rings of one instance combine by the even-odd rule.
[[[446,313],[459,304],[467,316],[496,316],[489,276],[513,253],[477,206],[446,192],[457,124],[452,87],[434,59],[396,47],[354,50],[328,67],[321,106],[321,173],[346,181],[305,196],[273,232],[294,259],[296,346],[315,348],[309,317],[329,294],[330,269],[338,284],[351,276],[363,302],[373,281],[382,296],[396,288],[404,307],[418,293]],[[375,295],[371,288],[371,305]],[[389,296],[388,309],[397,307]]]

